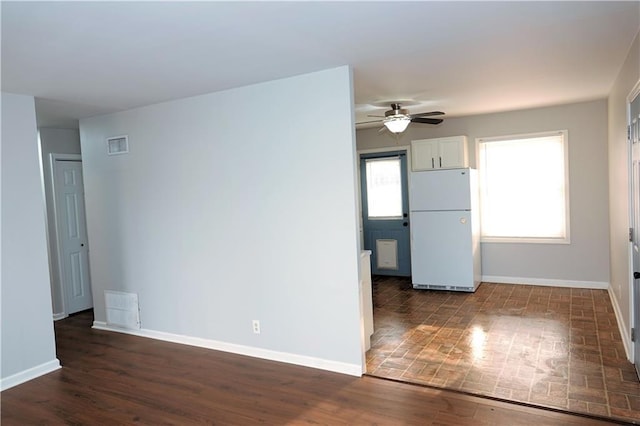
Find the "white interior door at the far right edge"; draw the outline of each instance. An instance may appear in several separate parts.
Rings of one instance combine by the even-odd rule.
[[[634,364],[640,377],[640,95],[630,105],[629,138],[631,142],[631,245],[633,253],[633,327],[635,328]]]

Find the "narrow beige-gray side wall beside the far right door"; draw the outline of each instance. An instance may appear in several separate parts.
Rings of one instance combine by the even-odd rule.
[[[639,6],[640,9],[640,6]],[[620,309],[623,336],[631,346],[633,326],[629,270],[629,144],[627,143],[628,96],[640,81],[640,33],[609,95],[609,215],[611,235],[611,290]],[[636,325],[637,327],[638,325]]]

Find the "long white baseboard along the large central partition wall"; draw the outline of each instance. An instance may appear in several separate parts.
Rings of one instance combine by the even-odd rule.
[[[287,364],[301,365],[303,367],[318,368],[320,370],[332,371],[335,373],[348,374],[350,376],[362,376],[363,366],[359,364],[347,364],[344,362],[331,361],[305,355],[291,354],[287,352],[272,351],[269,349],[256,348],[252,346],[238,345],[235,343],[221,342],[200,337],[184,336],[181,334],[165,333],[162,331],[130,330],[113,327],[106,322],[94,321],[93,328],[98,330],[115,331],[118,333],[132,334],[134,336],[147,337],[150,339],[164,340],[165,342],[180,343],[183,345],[197,346],[200,348],[213,349],[222,352],[230,352],[238,355],[246,355],[254,358],[268,359],[270,361],[284,362]]]

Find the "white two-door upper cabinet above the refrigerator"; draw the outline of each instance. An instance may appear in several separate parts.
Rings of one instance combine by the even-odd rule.
[[[458,169],[468,165],[466,136],[411,141],[411,170],[414,172]]]

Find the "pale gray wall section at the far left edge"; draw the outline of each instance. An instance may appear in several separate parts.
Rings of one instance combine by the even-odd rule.
[[[59,366],[34,99],[2,93],[2,388]]]

